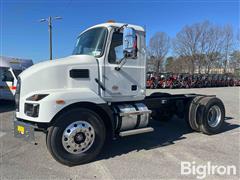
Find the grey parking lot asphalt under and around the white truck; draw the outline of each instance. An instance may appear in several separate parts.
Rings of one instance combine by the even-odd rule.
[[[0,179],[193,179],[181,175],[181,162],[234,165],[237,174],[207,175],[206,179],[240,178],[240,88],[159,89],[172,94],[216,94],[226,107],[226,126],[217,135],[193,132],[184,120],[155,122],[155,131],[125,137],[106,146],[96,161],[67,167],[56,162],[37,133],[38,145],[13,137],[13,103],[0,102]]]

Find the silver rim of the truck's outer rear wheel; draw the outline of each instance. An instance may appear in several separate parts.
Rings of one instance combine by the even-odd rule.
[[[222,114],[220,108],[216,105],[212,106],[207,115],[208,125],[213,128],[218,126],[221,121],[221,117]]]

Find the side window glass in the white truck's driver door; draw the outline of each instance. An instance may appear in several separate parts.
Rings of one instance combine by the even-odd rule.
[[[123,34],[114,32],[108,54],[108,62],[115,64],[123,57]]]

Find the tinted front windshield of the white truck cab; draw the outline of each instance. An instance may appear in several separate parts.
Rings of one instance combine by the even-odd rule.
[[[103,27],[90,29],[77,38],[73,55],[85,54],[99,57],[103,54],[107,29]]]

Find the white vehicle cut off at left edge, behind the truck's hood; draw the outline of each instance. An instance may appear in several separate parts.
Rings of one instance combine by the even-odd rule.
[[[30,59],[0,56],[0,99],[14,100],[18,75],[32,65]]]

